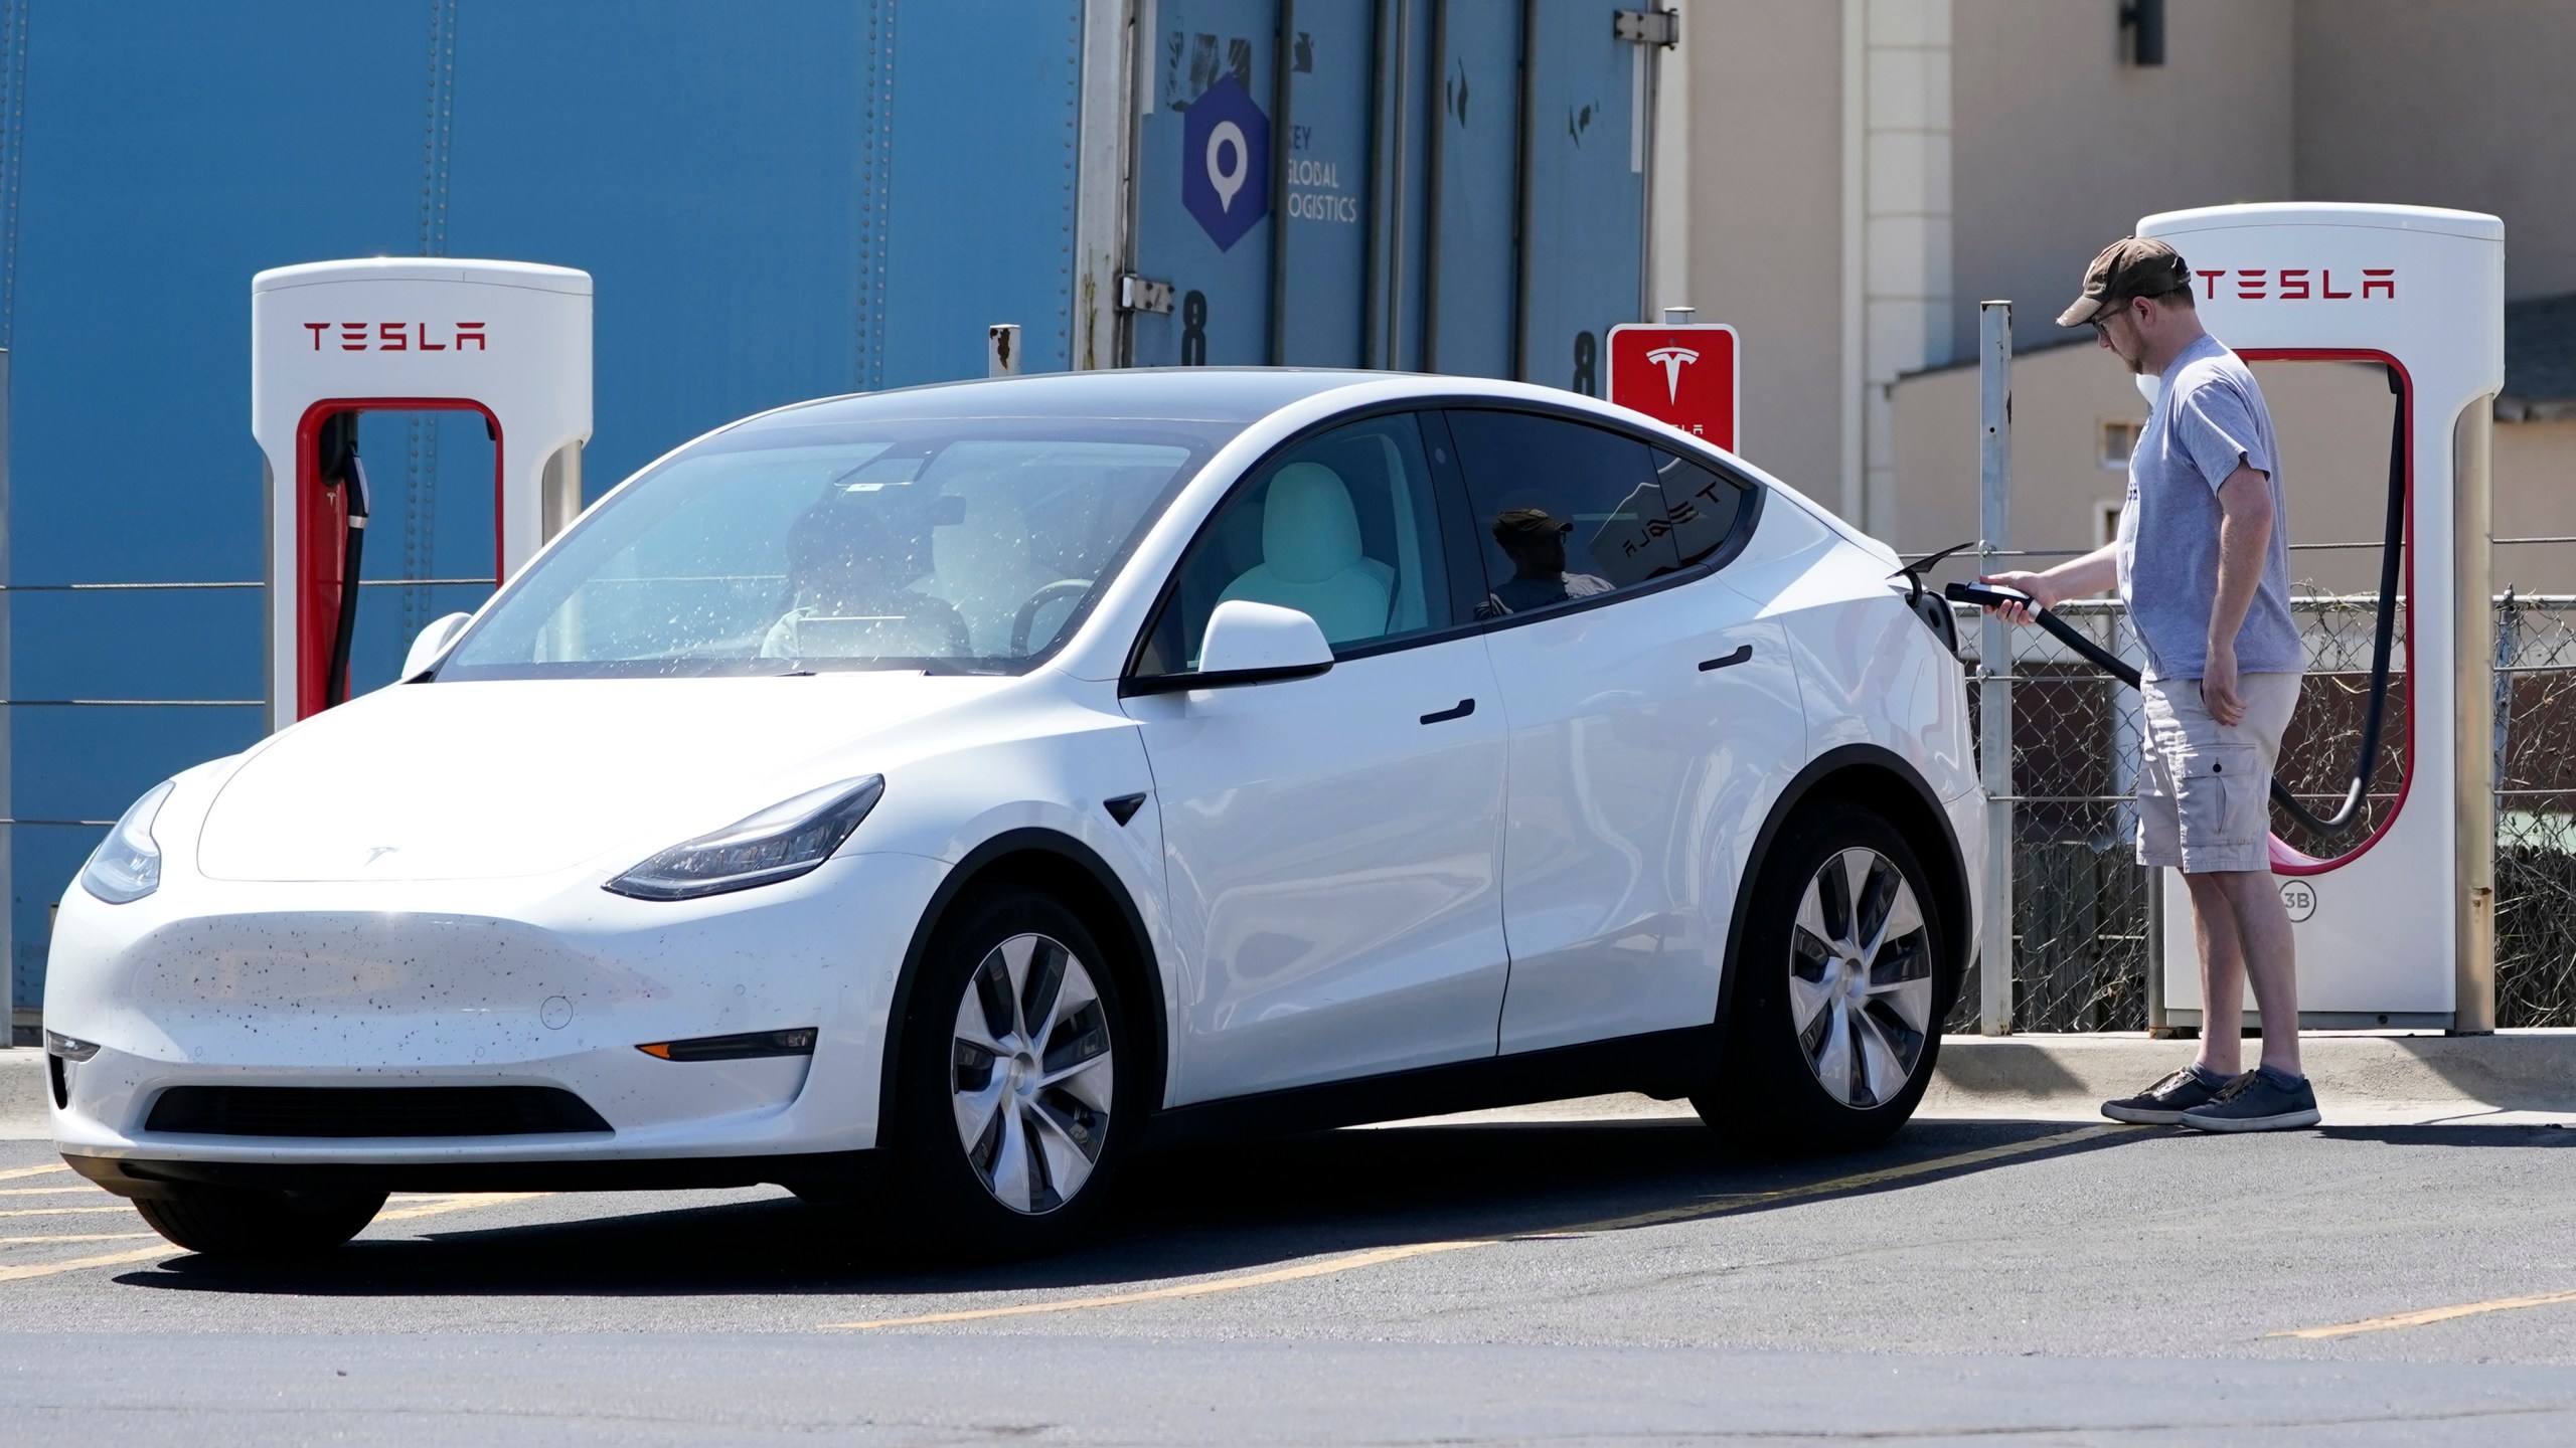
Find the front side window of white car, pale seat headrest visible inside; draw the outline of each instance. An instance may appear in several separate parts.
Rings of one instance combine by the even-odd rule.
[[[1208,616],[1234,598],[1306,613],[1334,654],[1448,629],[1422,423],[1368,417],[1262,466],[1190,544],[1136,672],[1198,667]]]

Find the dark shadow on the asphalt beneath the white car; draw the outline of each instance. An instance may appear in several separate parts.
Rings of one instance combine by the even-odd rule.
[[[2063,1134],[2063,1123],[1914,1123],[1886,1147],[1842,1157],[1734,1154],[1695,1121],[1479,1123],[1321,1131],[1128,1162],[1092,1242],[1030,1262],[943,1262],[881,1214],[791,1198],[711,1201],[577,1221],[361,1239],[317,1262],[175,1257],[124,1286],[304,1296],[698,1296],[698,1293],[992,1293],[1108,1288],[1270,1268],[1301,1257],[1553,1232],[1713,1198],[1814,1188]],[[1896,1193],[1947,1175],[2156,1139],[2120,1131],[2058,1149],[1968,1162],[1850,1193]],[[580,1198],[554,1198],[580,1201]],[[621,1198],[600,1198],[616,1211]],[[623,1201],[652,1201],[641,1193]],[[1814,1203],[1731,1203],[1777,1211]],[[938,1304],[927,1304],[938,1309]]]

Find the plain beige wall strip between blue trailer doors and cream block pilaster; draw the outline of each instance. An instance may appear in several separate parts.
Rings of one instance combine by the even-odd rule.
[[[1744,343],[1744,456],[1842,487],[1842,8],[1692,5],[1690,286]],[[1682,301],[1674,296],[1672,301]]]

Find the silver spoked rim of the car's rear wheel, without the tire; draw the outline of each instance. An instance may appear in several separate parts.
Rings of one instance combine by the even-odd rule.
[[[1824,1092],[1891,1100],[1932,1031],[1932,935],[1896,861],[1850,848],[1806,881],[1788,961],[1790,1028]]]

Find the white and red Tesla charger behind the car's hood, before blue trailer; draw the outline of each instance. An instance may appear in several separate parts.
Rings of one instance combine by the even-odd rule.
[[[268,461],[268,727],[332,698],[355,469],[332,417],[482,412],[492,433],[492,582],[582,510],[590,441],[590,273],[562,265],[371,258],[250,278],[250,428]],[[340,680],[345,691],[345,678]]]

